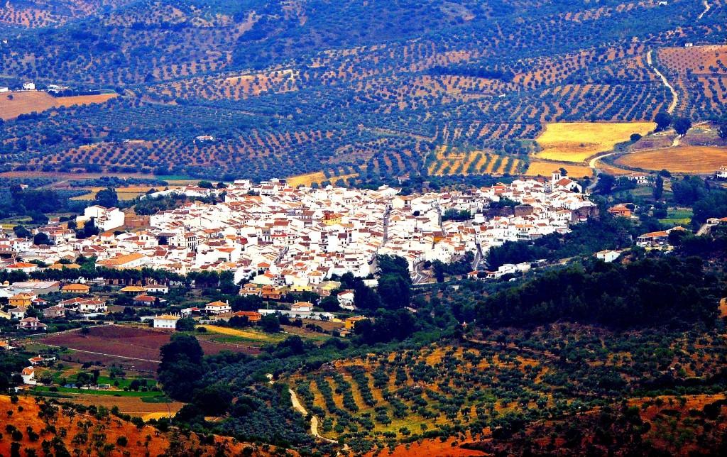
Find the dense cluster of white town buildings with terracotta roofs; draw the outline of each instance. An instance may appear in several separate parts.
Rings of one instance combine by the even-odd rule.
[[[423,195],[398,195],[398,189],[387,186],[294,189],[278,179],[239,180],[224,190],[222,203],[159,211],[150,217],[150,227],[138,232],[76,239],[75,232],[61,226],[41,227],[51,246],[0,238],[0,258],[7,257],[0,268],[33,272],[38,268],[28,263],[33,259],[59,267],[57,262],[82,254],[110,268],[151,267],[182,275],[230,271],[235,283],[254,288],[320,291],[332,275],[371,275],[377,254],[403,256],[414,274],[427,260],[448,263],[466,251],[482,253],[508,240],[566,232],[595,211],[577,182],[558,171],[551,179]],[[504,199],[518,206],[491,211]],[[448,210],[473,216],[443,220]],[[90,206],[83,218],[93,218],[102,230],[124,223],[123,212],[100,206]]]

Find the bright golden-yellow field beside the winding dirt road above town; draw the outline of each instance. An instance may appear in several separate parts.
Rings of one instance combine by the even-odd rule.
[[[538,158],[555,161],[582,162],[586,158],[613,149],[628,141],[631,134],[646,134],[656,127],[652,122],[592,123],[563,122],[548,124],[537,138],[542,150]]]

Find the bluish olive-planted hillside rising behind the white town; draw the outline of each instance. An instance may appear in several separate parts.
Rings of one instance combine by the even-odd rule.
[[[5,170],[322,171],[332,182],[524,172],[546,124],[651,121],[666,109],[671,93],[646,59],[654,49],[677,81],[676,113],[724,106],[721,4],[701,17],[692,0],[166,0],[84,11],[6,33],[0,85],[121,97],[5,122]],[[205,135],[214,139],[196,139]],[[89,142],[103,143],[81,147]],[[475,152],[448,161],[441,147]]]

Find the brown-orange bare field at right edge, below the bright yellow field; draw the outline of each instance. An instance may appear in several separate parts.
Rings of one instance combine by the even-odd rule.
[[[678,146],[624,155],[616,164],[672,173],[714,173],[727,165],[727,147]]]

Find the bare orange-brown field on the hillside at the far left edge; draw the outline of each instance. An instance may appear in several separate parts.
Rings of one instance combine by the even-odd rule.
[[[12,96],[12,99],[10,98]],[[41,112],[50,108],[73,105],[103,103],[116,97],[116,94],[79,95],[76,97],[52,97],[47,92],[12,92],[0,94],[0,118],[17,118],[33,111]]]

